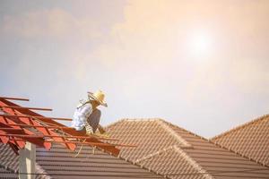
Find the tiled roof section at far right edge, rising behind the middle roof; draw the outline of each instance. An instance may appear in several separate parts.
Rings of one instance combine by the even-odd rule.
[[[223,132],[212,141],[269,167],[269,115]]]

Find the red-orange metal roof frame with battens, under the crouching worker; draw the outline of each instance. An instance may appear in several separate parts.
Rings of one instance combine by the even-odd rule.
[[[22,132],[13,129],[12,130],[6,129],[7,131],[2,130],[4,133],[3,132],[0,133],[0,139],[4,140],[5,143],[12,144],[12,146],[18,147],[14,148],[15,152],[16,150],[23,148],[24,145],[23,141],[30,141],[36,143],[39,146],[43,147],[45,146],[46,149],[50,149],[51,142],[56,142],[62,144],[63,146],[65,146],[65,148],[71,150],[75,149],[76,147],[75,143],[80,144],[86,143],[93,147],[95,146],[98,149],[104,149],[106,152],[111,153],[114,156],[118,156],[119,154],[119,149],[117,149],[116,146],[136,147],[135,145],[129,145],[129,144],[107,143],[108,141],[118,141],[118,140],[106,137],[102,138],[95,135],[92,136],[85,135],[82,132],[75,131],[74,128],[67,127],[64,124],[56,122],[56,120],[72,121],[72,119],[46,117],[32,111],[32,110],[51,111],[52,109],[39,108],[39,107],[21,107],[6,99],[8,98],[0,98],[0,109],[4,112],[4,114],[0,114],[0,124],[3,124],[3,126],[1,127],[18,128],[21,129]],[[19,99],[23,100],[23,98]],[[33,128],[41,132],[41,134],[30,133],[27,127]],[[54,129],[58,131],[56,132],[56,130]],[[58,132],[63,133],[63,135]],[[17,144],[18,142],[22,142],[23,145],[18,146]]]

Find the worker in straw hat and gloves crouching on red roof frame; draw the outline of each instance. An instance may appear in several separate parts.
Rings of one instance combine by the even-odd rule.
[[[74,111],[74,118],[72,121],[72,127],[74,127],[76,131],[95,133],[96,130],[99,129],[100,133],[105,132],[99,124],[101,112],[97,108],[100,105],[108,107],[104,98],[104,93],[101,90],[98,90],[95,93],[88,92],[88,100],[80,101],[80,104]],[[89,127],[87,127],[86,130],[87,123]]]

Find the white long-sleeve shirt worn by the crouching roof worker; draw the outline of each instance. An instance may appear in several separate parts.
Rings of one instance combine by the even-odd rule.
[[[92,113],[91,103],[81,102],[81,104],[76,107],[74,111],[72,127],[75,128],[76,131],[81,131],[85,126],[88,117]]]

